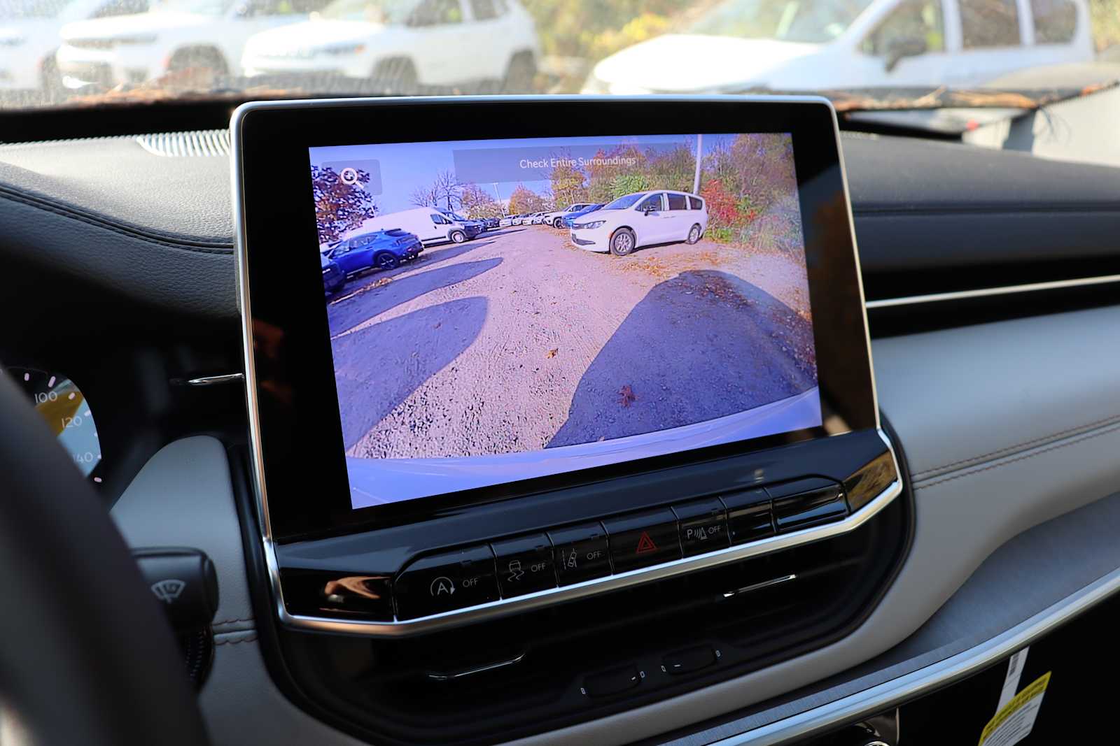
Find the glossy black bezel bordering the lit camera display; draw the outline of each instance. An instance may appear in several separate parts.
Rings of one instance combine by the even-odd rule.
[[[455,123],[454,133],[447,131],[449,122]],[[836,114],[827,100],[540,96],[274,102],[242,106],[232,129],[253,473],[267,538],[297,540],[408,523],[478,503],[878,427],[850,201]],[[321,278],[312,271],[315,255],[308,252],[307,266],[298,268],[299,254],[282,263],[258,258],[269,257],[272,246],[318,244],[308,149],[689,132],[793,136],[824,424],[353,509]],[[264,248],[254,253],[253,246]]]

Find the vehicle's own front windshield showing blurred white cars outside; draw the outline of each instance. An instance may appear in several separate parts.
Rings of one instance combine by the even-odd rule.
[[[1117,81],[1120,0],[0,0],[0,108],[781,93],[963,132]]]

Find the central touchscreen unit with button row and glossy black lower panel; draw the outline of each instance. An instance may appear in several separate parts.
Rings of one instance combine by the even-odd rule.
[[[912,509],[825,101],[283,102],[233,133],[259,625],[297,703],[492,743],[874,608]]]

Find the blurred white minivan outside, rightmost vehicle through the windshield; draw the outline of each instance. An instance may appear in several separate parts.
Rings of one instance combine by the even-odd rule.
[[[584,93],[965,87],[1093,56],[1085,0],[724,0],[601,60]]]

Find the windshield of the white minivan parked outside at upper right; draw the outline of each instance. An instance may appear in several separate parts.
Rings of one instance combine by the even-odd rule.
[[[847,30],[871,0],[727,0],[690,34],[822,44]]]

